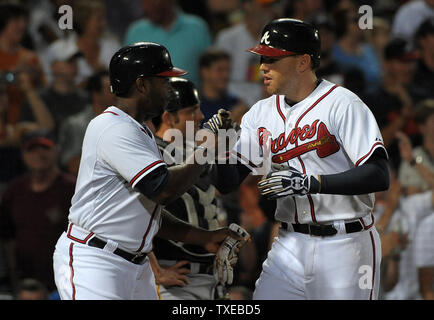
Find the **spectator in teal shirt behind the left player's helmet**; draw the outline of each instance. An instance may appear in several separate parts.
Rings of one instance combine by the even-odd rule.
[[[140,41],[165,46],[174,65],[188,70],[186,78],[199,85],[199,55],[211,45],[208,25],[200,17],[186,14],[175,0],[143,0],[145,18],[131,24],[126,45]]]

